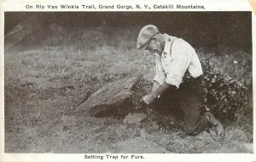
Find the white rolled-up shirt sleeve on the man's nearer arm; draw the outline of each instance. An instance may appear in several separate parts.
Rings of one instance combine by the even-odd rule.
[[[166,72],[166,83],[179,88],[182,83],[184,73],[189,67],[192,53],[179,47],[172,50],[172,64]]]

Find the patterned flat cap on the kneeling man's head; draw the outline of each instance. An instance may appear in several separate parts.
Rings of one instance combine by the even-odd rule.
[[[144,26],[139,32],[137,37],[137,49],[140,49],[141,52],[146,49],[148,42],[153,38],[157,33],[158,29],[154,25]]]

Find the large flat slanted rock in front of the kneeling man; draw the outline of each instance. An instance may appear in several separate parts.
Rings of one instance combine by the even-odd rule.
[[[133,108],[132,93],[129,90],[132,90],[141,79],[141,76],[124,78],[104,85],[77,107],[76,112],[95,117],[125,117]]]

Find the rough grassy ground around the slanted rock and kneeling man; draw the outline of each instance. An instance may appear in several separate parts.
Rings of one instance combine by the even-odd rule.
[[[154,120],[125,124],[121,119],[73,115],[104,84],[154,71],[154,58],[135,50],[138,30],[109,32],[108,27],[54,24],[6,50],[5,152],[252,153],[252,117],[244,114],[224,125],[225,135],[219,139],[207,132],[187,136],[175,125],[166,127]],[[245,55],[225,52],[213,55],[212,61],[251,84],[250,67],[240,67],[244,58],[239,54]]]

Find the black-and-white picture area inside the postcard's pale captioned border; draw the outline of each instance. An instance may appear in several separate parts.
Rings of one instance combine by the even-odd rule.
[[[4,12],[4,153],[253,154],[252,39],[252,11]]]

